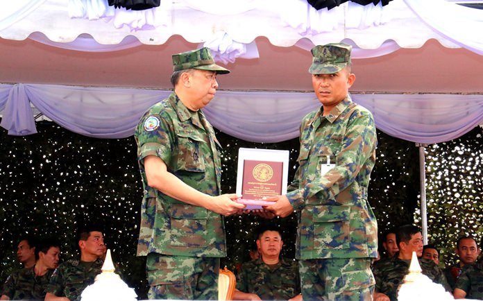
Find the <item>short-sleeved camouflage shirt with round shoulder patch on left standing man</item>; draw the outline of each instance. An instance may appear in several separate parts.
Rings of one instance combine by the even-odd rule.
[[[226,256],[223,217],[149,187],[144,171],[144,158],[155,155],[190,187],[218,196],[221,146],[203,112],[188,110],[172,93],[144,114],[135,139],[144,185],[137,255]]]

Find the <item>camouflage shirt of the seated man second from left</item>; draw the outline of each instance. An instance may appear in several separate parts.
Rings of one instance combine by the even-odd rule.
[[[45,289],[53,270],[47,270],[42,276],[35,275],[35,266],[22,268],[7,278],[0,295],[6,295],[10,300],[44,300]]]

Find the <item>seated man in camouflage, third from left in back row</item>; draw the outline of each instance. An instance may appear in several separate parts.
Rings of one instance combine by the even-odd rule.
[[[92,227],[78,233],[80,260],[65,261],[53,272],[45,301],[80,301],[80,294],[101,273],[104,236]]]

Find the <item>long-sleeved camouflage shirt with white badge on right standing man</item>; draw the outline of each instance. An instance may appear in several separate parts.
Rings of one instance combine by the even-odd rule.
[[[287,198],[298,214],[297,259],[377,257],[378,225],[367,201],[377,137],[371,112],[350,95],[300,125],[299,167]],[[321,175],[321,164],[335,167]]]

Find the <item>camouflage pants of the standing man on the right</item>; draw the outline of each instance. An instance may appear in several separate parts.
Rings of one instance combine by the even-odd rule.
[[[298,265],[303,300],[373,300],[370,258],[309,259]]]

